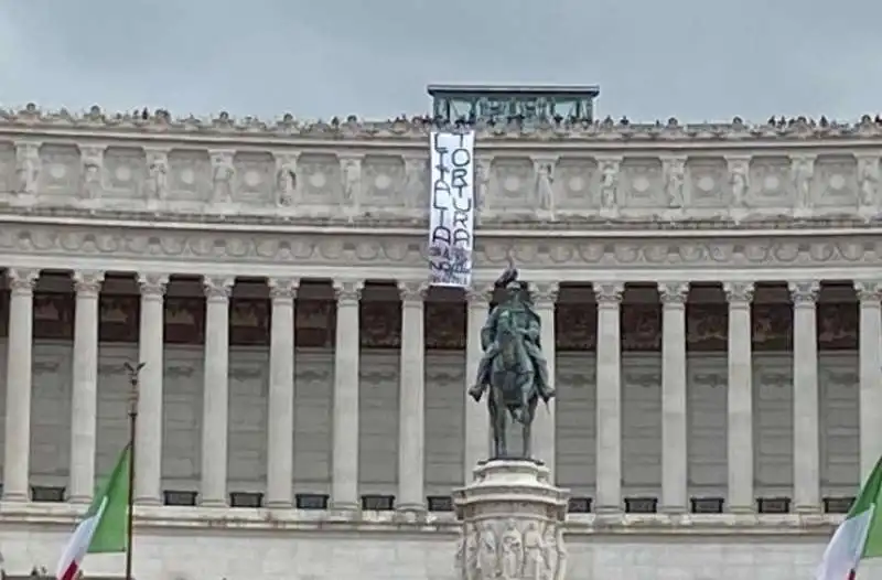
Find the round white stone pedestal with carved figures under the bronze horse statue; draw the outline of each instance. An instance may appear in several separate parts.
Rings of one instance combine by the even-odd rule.
[[[474,479],[453,491],[462,525],[458,578],[563,580],[569,492],[550,483],[548,468],[531,460],[492,460],[477,465]]]

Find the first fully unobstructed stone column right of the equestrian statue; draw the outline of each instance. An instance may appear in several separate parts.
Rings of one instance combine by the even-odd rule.
[[[622,336],[624,284],[594,283],[598,301],[595,512],[622,509]]]

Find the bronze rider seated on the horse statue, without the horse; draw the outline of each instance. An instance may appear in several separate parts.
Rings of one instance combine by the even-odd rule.
[[[493,359],[499,355],[501,346],[497,342],[497,325],[502,316],[510,316],[513,325],[521,329],[521,341],[526,351],[527,364],[533,365],[536,372],[536,389],[542,400],[548,401],[555,396],[555,390],[548,384],[548,364],[542,355],[541,347],[541,320],[533,307],[533,300],[525,286],[517,281],[517,270],[509,268],[508,271],[496,282],[497,288],[503,287],[506,291],[506,299],[494,307],[487,322],[481,330],[481,346],[484,350],[484,357],[477,367],[477,380],[469,389],[469,394],[475,399],[480,399],[484,390],[491,383],[491,368]],[[521,409],[527,408],[530,389],[534,385],[525,385],[520,393]]]

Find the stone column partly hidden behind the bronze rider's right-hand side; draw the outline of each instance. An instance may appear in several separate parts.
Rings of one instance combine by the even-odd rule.
[[[548,382],[550,386],[557,387],[555,380],[556,373],[556,358],[555,342],[555,308],[558,302],[558,284],[556,282],[534,284],[530,289],[533,291],[533,300],[536,307],[536,312],[542,322],[542,335],[540,337],[542,344],[542,353],[546,361],[548,361]],[[533,450],[534,457],[548,466],[548,473],[551,482],[555,481],[555,460],[557,452],[555,449],[556,438],[556,420],[555,420],[555,399],[548,401],[548,405],[539,404],[536,409],[536,419],[533,427]]]

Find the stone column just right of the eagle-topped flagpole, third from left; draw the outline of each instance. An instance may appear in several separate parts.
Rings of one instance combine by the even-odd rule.
[[[162,482],[162,382],[165,375],[164,315],[169,277],[139,273],[141,325],[138,339],[141,369],[138,394],[138,426],[135,434],[135,501],[160,505]]]

